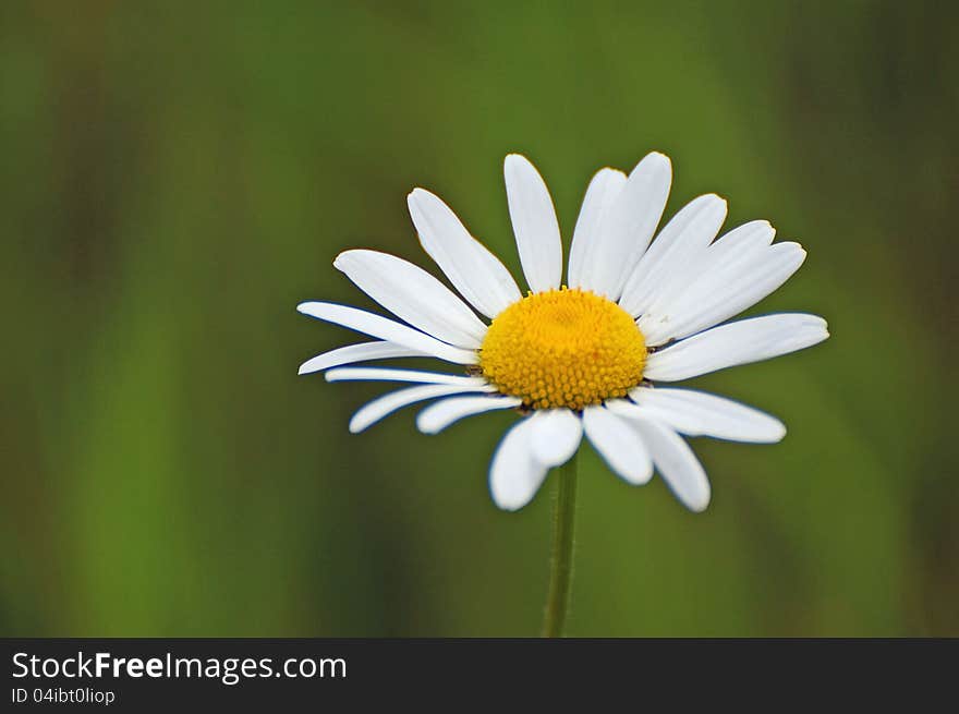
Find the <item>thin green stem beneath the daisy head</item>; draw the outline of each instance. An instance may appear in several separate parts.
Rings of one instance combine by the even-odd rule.
[[[573,522],[576,513],[576,455],[559,469],[549,592],[543,618],[543,637],[562,637],[573,579]]]

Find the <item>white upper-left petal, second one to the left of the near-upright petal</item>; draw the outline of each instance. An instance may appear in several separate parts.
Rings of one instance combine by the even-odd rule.
[[[412,263],[378,251],[344,251],[333,261],[357,288],[413,327],[444,342],[477,349],[486,335],[475,313]]]

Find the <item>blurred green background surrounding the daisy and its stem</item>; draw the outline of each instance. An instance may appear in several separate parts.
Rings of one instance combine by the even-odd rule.
[[[945,13],[945,14],[944,14]],[[368,246],[434,266],[405,194],[519,261],[529,155],[569,237],[599,166],[671,156],[810,257],[760,312],[805,353],[697,386],[780,416],[694,439],[693,516],[584,447],[570,632],[959,634],[959,10],[845,1],[4,2],[0,633],[526,636],[550,492],[486,487],[511,415],[351,436],[384,385],[298,377],[372,303]]]

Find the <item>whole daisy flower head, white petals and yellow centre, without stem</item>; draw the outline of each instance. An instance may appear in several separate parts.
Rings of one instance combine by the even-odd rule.
[[[530,503],[549,469],[571,459],[585,434],[627,482],[645,484],[655,468],[688,508],[705,509],[709,482],[680,435],[773,443],[786,427],[729,399],[659,385],[826,339],[826,323],[814,315],[720,324],[781,286],[805,251],[793,242],[773,243],[775,230],[764,220],[714,241],[726,202],[713,194],[685,205],[654,241],[672,170],[666,156],[653,153],[629,176],[607,168],[590,182],[563,285],[562,243],[546,184],[522,156],[508,156],[503,170],[530,287],[525,297],[442,201],[416,189],[408,202],[420,241],[462,299],[396,256],[341,253],[333,265],[402,322],[328,302],[302,303],[298,310],[305,315],[377,340],[319,354],[300,374],[329,370],[329,382],[412,385],[360,409],[350,421],[354,433],[427,400],[435,401],[416,420],[427,434],[465,416],[514,410],[519,419],[489,472],[500,508]],[[464,365],[465,374],[342,366],[424,355]]]

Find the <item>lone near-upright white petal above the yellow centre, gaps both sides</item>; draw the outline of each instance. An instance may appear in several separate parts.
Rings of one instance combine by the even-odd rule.
[[[507,156],[502,170],[520,263],[530,290],[555,290],[562,279],[562,243],[546,183],[519,154]]]

